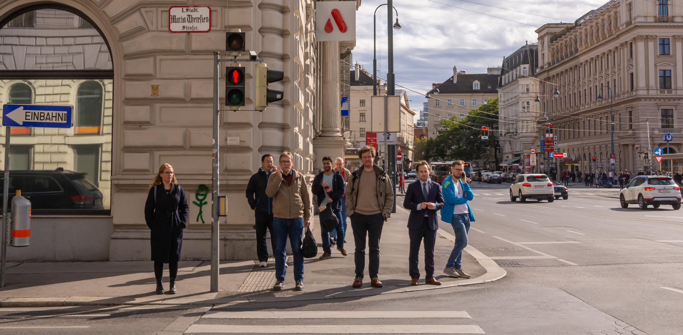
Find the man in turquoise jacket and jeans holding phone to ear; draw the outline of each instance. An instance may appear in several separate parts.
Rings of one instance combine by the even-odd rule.
[[[467,204],[474,198],[474,193],[465,180],[464,162],[454,161],[451,165],[451,175],[443,180],[441,193],[445,206],[441,209],[441,221],[448,222],[453,227],[456,235],[456,245],[451,251],[446,268],[443,273],[458,278],[470,278],[470,275],[462,271],[462,250],[467,246],[467,232],[470,222],[474,222],[472,210]]]

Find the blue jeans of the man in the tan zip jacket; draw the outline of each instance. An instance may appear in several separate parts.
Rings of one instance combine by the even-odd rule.
[[[275,230],[275,279],[285,282],[285,260],[287,255],[287,237],[290,238],[292,256],[294,256],[294,280],[303,281],[303,256],[301,255],[301,234],[303,233],[303,217],[296,219],[273,219]]]

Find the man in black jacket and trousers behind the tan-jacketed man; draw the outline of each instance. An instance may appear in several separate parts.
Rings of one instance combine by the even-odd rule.
[[[268,176],[275,170],[273,156],[270,154],[261,157],[261,165],[258,172],[249,178],[247,183],[247,202],[254,211],[256,230],[256,254],[259,267],[268,266],[268,246],[266,244],[266,231],[270,232],[270,247],[275,252],[275,234],[273,232],[273,198],[266,195]]]

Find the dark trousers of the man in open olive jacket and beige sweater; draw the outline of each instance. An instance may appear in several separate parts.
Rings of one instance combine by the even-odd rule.
[[[373,215],[363,215],[353,213],[351,218],[351,228],[353,229],[353,239],[356,243],[354,261],[356,263],[356,277],[363,278],[365,270],[365,236],[367,235],[367,245],[370,247],[370,264],[367,272],[370,278],[377,278],[380,271],[380,235],[384,226],[382,213]]]

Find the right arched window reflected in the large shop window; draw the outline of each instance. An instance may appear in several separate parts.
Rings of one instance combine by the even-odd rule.
[[[102,129],[102,85],[85,81],[76,94],[76,134],[99,134]]]

